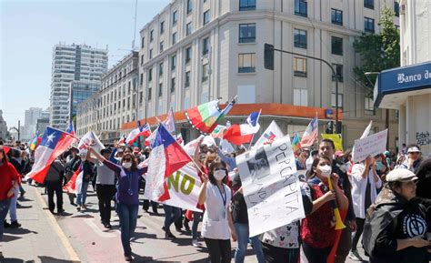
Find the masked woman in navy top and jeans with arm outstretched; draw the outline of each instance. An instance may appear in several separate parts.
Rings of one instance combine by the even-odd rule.
[[[135,228],[137,212],[139,208],[139,177],[146,173],[147,167],[138,168],[135,156],[131,153],[125,154],[121,159],[121,167],[106,160],[92,147],[90,152],[103,164],[115,172],[118,178],[116,185],[116,210],[120,218],[121,243],[125,251],[125,260],[132,261],[132,248],[130,238],[132,238]]]

